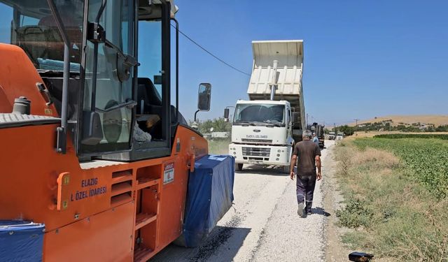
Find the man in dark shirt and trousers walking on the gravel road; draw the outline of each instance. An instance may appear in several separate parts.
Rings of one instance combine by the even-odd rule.
[[[290,162],[290,177],[291,180],[294,180],[294,176],[297,175],[297,214],[300,217],[305,217],[305,215],[311,214],[314,187],[316,186],[316,180],[321,180],[322,173],[321,150],[318,145],[310,140],[311,131],[303,131],[302,138],[303,140],[295,144],[294,147]],[[294,171],[294,165],[297,166],[296,172]]]

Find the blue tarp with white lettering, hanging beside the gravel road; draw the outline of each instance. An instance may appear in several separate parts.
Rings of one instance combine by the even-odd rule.
[[[234,180],[233,157],[207,155],[195,162],[195,171],[188,178],[182,245],[200,245],[232,207]]]

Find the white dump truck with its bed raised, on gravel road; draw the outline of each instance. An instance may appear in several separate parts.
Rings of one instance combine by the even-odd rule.
[[[305,126],[302,92],[303,41],[253,41],[248,101],[238,100],[229,154],[245,163],[283,166],[289,173],[293,146]],[[225,110],[228,118],[229,110]]]

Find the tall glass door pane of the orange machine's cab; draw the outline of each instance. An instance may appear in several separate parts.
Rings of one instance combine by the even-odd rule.
[[[95,21],[101,6],[102,0],[89,2],[89,22]],[[123,75],[120,59],[125,55],[134,56],[133,1],[107,1],[99,24],[106,31],[106,41],[97,43],[96,51],[95,44],[87,41],[83,110],[85,115],[98,112],[103,138],[95,145],[81,142],[83,154],[128,150],[132,138],[133,107],[121,105],[133,99],[134,68],[130,67],[128,74]]]

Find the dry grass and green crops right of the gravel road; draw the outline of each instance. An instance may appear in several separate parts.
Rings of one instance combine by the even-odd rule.
[[[341,226],[353,228],[342,241],[393,261],[448,261],[444,182],[428,183],[447,175],[447,143],[417,138],[340,143],[338,180],[346,205],[336,215]]]

